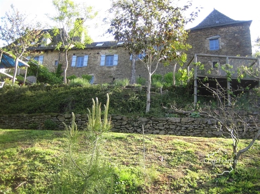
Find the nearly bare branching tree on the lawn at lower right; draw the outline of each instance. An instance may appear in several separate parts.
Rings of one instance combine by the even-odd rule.
[[[199,79],[200,85],[207,91],[211,92],[214,99],[218,102],[218,108],[213,107],[214,101],[210,101],[209,105],[205,104],[203,108],[197,107],[196,110],[190,109],[190,111],[185,112],[195,112],[199,116],[213,118],[217,121],[215,127],[232,139],[232,168],[236,169],[237,161],[241,154],[248,151],[260,135],[260,127],[256,124],[259,122],[259,118],[258,116],[251,117],[246,115],[243,104],[250,102],[244,102],[243,100],[243,104],[241,105],[240,98],[242,97],[242,94],[244,94],[243,88],[227,89],[223,87],[217,79],[212,81],[215,81],[216,83],[214,87],[213,85],[211,86],[209,83]],[[231,94],[230,98],[227,97],[228,94]],[[250,106],[253,106],[253,104]],[[173,106],[173,108],[178,112],[184,112],[181,108],[176,106]],[[238,150],[240,138],[242,138],[248,131],[253,132],[251,142],[246,147]]]

